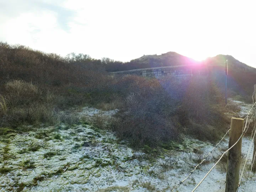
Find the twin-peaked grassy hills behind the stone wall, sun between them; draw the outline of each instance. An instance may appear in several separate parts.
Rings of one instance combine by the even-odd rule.
[[[198,62],[175,52],[167,52],[161,55],[144,55],[127,63],[110,62],[106,65],[106,70],[111,72],[160,66],[204,64],[213,66],[211,68],[210,79],[224,91],[224,62],[226,60],[228,60],[229,64],[229,96],[240,95],[243,99],[251,101],[251,95],[252,92],[254,92],[253,87],[254,84],[256,84],[256,69],[236,60],[230,55],[217,55],[215,57],[209,57],[202,62]]]

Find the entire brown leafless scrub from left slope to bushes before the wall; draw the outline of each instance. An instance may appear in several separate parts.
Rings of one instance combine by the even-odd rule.
[[[98,114],[92,121],[133,147],[154,148],[180,139],[181,133],[217,140],[225,131],[223,95],[212,81],[113,77],[105,72],[107,63],[84,54],[60,57],[1,42],[0,127],[76,124],[77,116],[60,111],[87,104],[118,108],[110,119]]]

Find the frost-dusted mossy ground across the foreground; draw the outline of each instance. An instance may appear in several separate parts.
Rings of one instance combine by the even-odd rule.
[[[244,116],[251,105],[240,104],[239,115]],[[78,116],[89,121],[98,113],[111,116],[115,112],[86,107]],[[6,132],[0,136],[0,191],[171,191],[215,145],[184,136],[180,144],[172,143],[158,155],[149,155],[146,152],[154,154],[153,149],[135,151],[114,133],[86,122],[36,128],[28,133]],[[244,137],[241,169],[250,145],[250,136]],[[192,191],[227,148],[228,136],[177,191]],[[239,191],[255,191],[254,174],[247,183],[252,150]],[[197,191],[225,191],[225,169],[224,160]]]

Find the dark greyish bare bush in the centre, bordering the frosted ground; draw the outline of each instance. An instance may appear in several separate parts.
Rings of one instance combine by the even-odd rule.
[[[171,118],[175,106],[172,99],[166,96],[157,80],[141,78],[115,116],[118,120],[113,129],[117,135],[129,139],[135,147],[145,144],[156,146],[177,138],[175,119]]]

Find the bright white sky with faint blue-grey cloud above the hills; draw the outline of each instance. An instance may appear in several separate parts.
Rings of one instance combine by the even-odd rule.
[[[0,41],[123,62],[174,51],[256,67],[254,0],[0,0]]]

